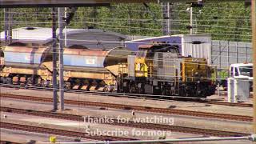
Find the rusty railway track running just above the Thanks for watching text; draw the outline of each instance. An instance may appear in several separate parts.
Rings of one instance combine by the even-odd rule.
[[[14,99],[34,101],[34,102],[53,102],[52,98],[40,98],[40,97],[34,97],[34,96],[24,96],[24,95],[14,95],[14,94],[1,94],[1,98],[14,98]],[[201,117],[201,118],[218,118],[218,119],[226,119],[226,120],[234,120],[234,121],[242,121],[242,122],[253,121],[253,117],[234,115],[234,114],[216,114],[216,113],[207,113],[207,112],[199,112],[199,111],[191,111],[191,110],[175,110],[175,109],[168,109],[168,108],[156,108],[156,107],[150,107],[150,106],[132,106],[132,105],[105,103],[105,102],[88,102],[88,101],[75,101],[75,100],[66,100],[66,99],[65,99],[65,103],[70,105],[77,105],[77,106],[98,106],[98,107],[106,107],[106,108],[114,108],[114,109],[122,109],[122,110],[137,110],[137,111],[146,111],[151,113],[176,114],[176,115],[186,115],[186,116]]]

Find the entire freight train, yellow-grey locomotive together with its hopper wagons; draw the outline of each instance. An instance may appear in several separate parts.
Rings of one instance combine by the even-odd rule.
[[[3,46],[0,56],[1,83],[52,86],[50,46]],[[215,90],[205,58],[182,57],[178,46],[166,43],[142,45],[136,53],[65,48],[63,58],[66,89],[200,98]]]

